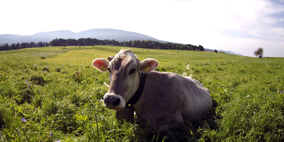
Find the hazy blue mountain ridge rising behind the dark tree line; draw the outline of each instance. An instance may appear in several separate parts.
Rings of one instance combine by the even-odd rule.
[[[124,30],[115,30],[115,29],[91,29],[82,32],[72,32],[70,30],[59,30],[52,32],[40,32],[30,36],[21,36],[17,34],[1,34],[0,35],[0,44],[8,43],[22,43],[22,42],[50,42],[55,38],[63,39],[79,39],[79,38],[96,38],[99,40],[117,40],[119,42],[130,41],[130,40],[153,40],[162,43],[167,41],[157,40],[151,36],[145,34],[139,34],[136,32],[129,32]]]

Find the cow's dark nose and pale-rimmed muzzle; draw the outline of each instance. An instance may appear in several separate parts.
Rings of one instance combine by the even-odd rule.
[[[119,110],[125,108],[125,100],[120,95],[105,94],[104,107]]]

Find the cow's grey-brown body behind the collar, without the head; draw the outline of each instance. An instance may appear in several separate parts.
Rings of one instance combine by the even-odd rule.
[[[147,74],[143,94],[134,108],[151,125],[160,127],[165,115],[181,123],[204,117],[212,108],[212,99],[209,90],[197,80],[152,71]]]

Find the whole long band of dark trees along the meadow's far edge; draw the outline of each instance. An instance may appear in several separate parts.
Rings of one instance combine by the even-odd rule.
[[[191,45],[191,44],[178,44],[178,43],[161,43],[152,40],[130,40],[118,42],[115,40],[98,40],[96,38],[79,38],[79,39],[62,39],[55,38],[48,42],[30,42],[30,43],[17,43],[11,44],[10,46],[6,43],[0,46],[0,51],[3,50],[15,50],[22,48],[33,48],[33,47],[46,47],[46,46],[98,46],[98,45],[109,45],[109,46],[123,46],[123,47],[136,47],[136,48],[149,48],[149,49],[174,49],[174,50],[193,50],[193,51],[204,51],[203,46]]]

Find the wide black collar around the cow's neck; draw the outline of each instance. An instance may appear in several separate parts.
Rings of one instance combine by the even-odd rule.
[[[146,73],[141,73],[141,77],[140,77],[140,81],[139,81],[139,87],[137,89],[137,91],[135,92],[135,94],[130,98],[130,100],[125,104],[125,107],[128,107],[129,104],[130,105],[135,105],[138,100],[140,99],[142,92],[144,90],[144,85],[146,82]]]

